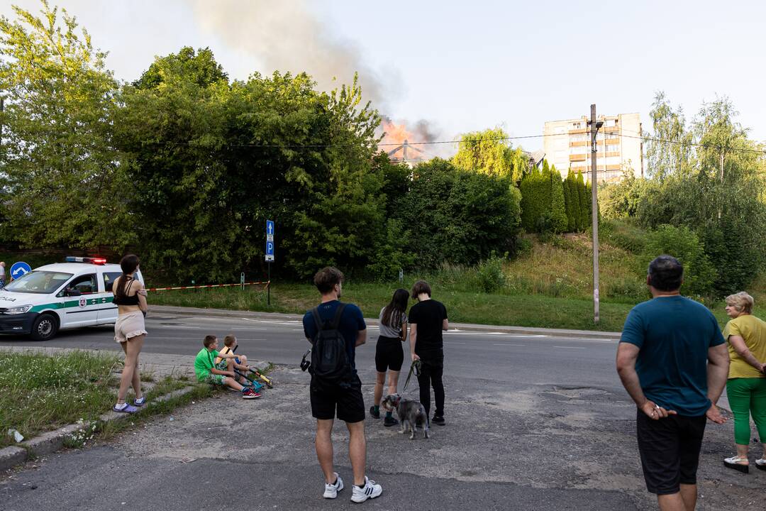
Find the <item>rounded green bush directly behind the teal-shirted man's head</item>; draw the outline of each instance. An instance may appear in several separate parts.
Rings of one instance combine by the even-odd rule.
[[[672,255],[683,264],[682,293],[709,296],[715,282],[715,267],[705,254],[702,242],[691,229],[660,225],[656,231],[651,232],[641,258],[643,267],[648,267],[650,261],[660,254]]]

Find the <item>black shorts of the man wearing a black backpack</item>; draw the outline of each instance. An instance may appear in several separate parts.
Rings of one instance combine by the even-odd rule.
[[[311,414],[317,419],[334,419],[358,422],[365,420],[365,400],[362,398],[362,382],[357,375],[345,385],[322,382],[311,378]]]

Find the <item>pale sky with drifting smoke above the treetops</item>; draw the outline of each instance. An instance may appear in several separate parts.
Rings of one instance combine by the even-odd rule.
[[[417,133],[430,139],[494,126],[541,135],[546,120],[589,115],[591,103],[640,113],[646,132],[661,90],[689,119],[728,97],[766,140],[766,2],[50,2],[109,52],[119,80],[182,46],[210,47],[233,79],[306,70],[329,89],[357,70],[373,106],[408,126],[424,120]],[[0,15],[15,17],[11,3],[40,5],[3,0]]]

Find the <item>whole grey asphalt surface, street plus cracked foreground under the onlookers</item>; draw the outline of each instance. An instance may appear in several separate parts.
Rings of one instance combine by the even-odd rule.
[[[277,387],[256,402],[221,393],[175,411],[173,421],[154,418],[109,444],[56,454],[2,480],[0,509],[352,507],[350,490],[336,502],[320,497],[308,375],[296,367],[308,346],[300,319],[162,313],[149,316],[147,329],[143,357],[194,355],[206,334],[234,332],[238,352],[277,364]],[[370,325],[356,356],[368,403],[376,337]],[[362,506],[653,509],[635,445],[635,407],[614,371],[616,340],[502,329],[450,331],[444,339],[447,426],[432,427],[430,440],[409,441],[368,418],[368,473],[384,493]],[[45,346],[119,349],[106,327],[62,332]],[[417,396],[417,383],[407,394]],[[348,484],[345,428],[336,425],[333,437]],[[766,473],[721,467],[732,437],[731,423],[708,428],[699,509],[762,508]]]

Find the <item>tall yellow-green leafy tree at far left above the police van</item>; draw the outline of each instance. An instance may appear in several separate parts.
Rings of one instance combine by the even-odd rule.
[[[6,239],[121,249],[136,241],[130,185],[112,146],[117,84],[87,31],[42,2],[0,18]]]

